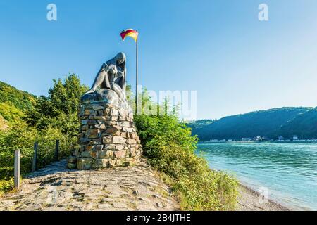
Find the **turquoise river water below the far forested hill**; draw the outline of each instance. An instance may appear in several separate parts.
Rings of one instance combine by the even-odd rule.
[[[283,205],[317,210],[317,143],[199,143],[197,153]]]

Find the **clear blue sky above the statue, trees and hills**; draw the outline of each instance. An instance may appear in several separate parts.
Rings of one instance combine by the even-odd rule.
[[[57,21],[46,20],[50,3]],[[0,80],[46,95],[52,79],[75,72],[90,86],[124,51],[134,85],[126,28],[139,31],[139,82],[197,91],[197,119],[317,106],[316,0],[0,0]]]

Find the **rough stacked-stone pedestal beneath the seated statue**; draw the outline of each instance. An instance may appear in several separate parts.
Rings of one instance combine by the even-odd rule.
[[[106,100],[96,97],[102,94]],[[68,167],[75,167],[75,162],[77,169],[124,167],[139,162],[142,148],[132,111],[117,98],[108,89],[83,97],[79,109],[79,145]]]

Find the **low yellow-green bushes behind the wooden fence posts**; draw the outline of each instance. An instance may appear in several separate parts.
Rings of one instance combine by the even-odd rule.
[[[56,140],[60,140],[59,157],[70,155],[70,150],[77,139],[64,135],[60,129],[47,127],[37,130],[20,123],[8,131],[0,132],[0,195],[13,188],[14,176],[14,151],[20,149],[21,175],[25,175],[32,169],[33,146],[38,142],[37,167],[42,168],[54,162],[54,150]]]

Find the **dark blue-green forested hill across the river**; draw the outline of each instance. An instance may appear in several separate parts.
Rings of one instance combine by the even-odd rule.
[[[294,135],[300,139],[312,139],[317,138],[317,108],[275,108],[223,117],[205,126],[194,122],[190,127],[200,141],[237,140],[254,136],[270,139],[284,136],[291,139]]]

